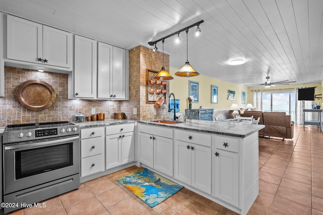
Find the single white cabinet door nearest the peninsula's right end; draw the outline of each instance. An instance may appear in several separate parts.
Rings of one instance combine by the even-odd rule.
[[[239,206],[239,154],[214,149],[212,195]]]

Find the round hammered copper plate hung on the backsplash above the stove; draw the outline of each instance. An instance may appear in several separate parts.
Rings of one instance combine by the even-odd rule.
[[[17,88],[16,98],[21,106],[29,110],[44,110],[55,102],[56,93],[46,82],[31,80]]]

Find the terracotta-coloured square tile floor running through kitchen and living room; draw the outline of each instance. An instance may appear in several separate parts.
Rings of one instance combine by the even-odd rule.
[[[45,208],[12,214],[236,214],[186,188],[150,208],[115,181],[137,169],[83,183],[45,200]],[[284,141],[259,138],[259,196],[248,214],[323,214],[323,133],[316,127],[295,126],[294,139]]]

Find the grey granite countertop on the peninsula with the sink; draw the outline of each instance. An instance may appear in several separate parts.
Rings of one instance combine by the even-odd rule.
[[[158,121],[158,120],[141,120],[138,122],[144,123],[144,124],[150,124],[150,125],[179,128],[179,129],[200,131],[200,132],[206,132],[206,133],[215,133],[215,134],[236,136],[236,137],[246,137],[264,128],[264,125],[235,123],[230,121],[204,121],[204,120],[192,119],[190,122],[181,122],[178,124],[166,124],[166,123],[159,123],[159,122],[153,122],[153,121]],[[169,120],[166,120],[166,121],[169,121]]]

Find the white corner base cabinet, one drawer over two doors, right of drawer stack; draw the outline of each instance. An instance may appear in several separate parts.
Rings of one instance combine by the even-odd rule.
[[[106,126],[105,168],[110,169],[135,160],[134,123]]]

